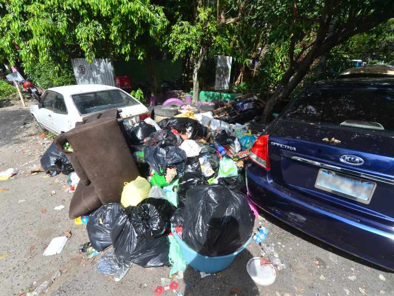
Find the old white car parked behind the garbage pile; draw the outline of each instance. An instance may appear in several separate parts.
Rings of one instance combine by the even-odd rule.
[[[74,128],[84,116],[114,108],[121,109],[121,117],[130,124],[149,117],[148,109],[127,92],[100,84],[49,88],[30,111],[38,126],[58,135]]]

